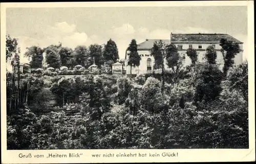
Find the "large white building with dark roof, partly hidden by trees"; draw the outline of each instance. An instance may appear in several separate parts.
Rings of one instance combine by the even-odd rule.
[[[206,53],[206,48],[212,45],[217,52],[217,62],[220,66],[223,66],[224,60],[221,53],[220,40],[227,39],[232,42],[236,42],[240,46],[240,53],[236,55],[234,59],[235,64],[241,64],[243,62],[243,42],[233,38],[228,34],[170,34],[170,39],[163,40],[166,44],[173,43],[176,45],[179,54],[181,55],[184,65],[187,66],[191,63],[190,58],[186,55],[188,48],[193,48],[198,54],[198,61],[202,61]],[[139,67],[132,67],[132,74],[145,74],[153,71],[155,59],[151,56],[151,49],[155,41],[160,39],[146,39],[144,42],[138,44],[138,53],[141,57]],[[125,52],[125,69],[126,74],[130,74],[131,67],[127,65],[129,60],[129,51]],[[166,62],[164,62],[165,68],[167,68]]]

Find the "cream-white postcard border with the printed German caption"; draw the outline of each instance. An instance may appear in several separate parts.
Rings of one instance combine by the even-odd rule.
[[[157,7],[157,6],[247,6],[248,7],[248,64],[249,64],[249,149],[115,149],[115,150],[6,150],[6,8],[65,8],[65,7]],[[254,110],[254,9],[253,1],[191,1],[191,2],[75,2],[75,3],[1,3],[1,145],[2,163],[79,163],[79,162],[202,162],[255,161]],[[18,154],[48,155],[48,153],[83,153],[80,158],[19,158]],[[91,154],[159,153],[160,157],[96,158]],[[162,152],[177,153],[178,157],[162,157]]]

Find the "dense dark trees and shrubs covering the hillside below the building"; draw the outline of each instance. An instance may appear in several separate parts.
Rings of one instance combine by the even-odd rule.
[[[7,40],[6,53],[11,58],[17,44],[13,38]],[[140,60],[136,45],[134,40],[129,45],[131,66]],[[154,67],[160,69],[157,73],[92,75],[82,70],[82,76],[72,77],[47,70],[43,74],[7,73],[7,147],[248,148],[248,63],[234,65],[236,44],[221,40],[220,45],[226,51],[223,68],[209,47],[201,62],[193,50],[187,50],[193,62],[183,69],[175,46],[164,45],[166,51],[161,53],[160,41],[152,49]],[[118,60],[117,56],[110,58],[108,51],[101,52],[97,64]],[[164,69],[163,58],[170,69]],[[19,56],[15,54],[12,61],[19,62]],[[84,61],[79,64],[91,64]],[[32,108],[31,102],[44,87],[56,97],[56,106]]]

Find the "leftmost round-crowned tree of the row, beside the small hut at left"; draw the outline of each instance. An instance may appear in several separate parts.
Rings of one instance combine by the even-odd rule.
[[[32,68],[40,68],[42,67],[42,56],[43,50],[39,48],[39,46],[31,46],[27,48],[26,53],[24,56],[31,58],[30,65]]]

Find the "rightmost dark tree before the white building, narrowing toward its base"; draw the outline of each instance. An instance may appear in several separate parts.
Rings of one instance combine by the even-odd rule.
[[[220,40],[220,46],[222,47],[221,52],[224,59],[223,75],[227,76],[227,71],[234,64],[234,57],[239,53],[240,47],[238,43],[233,43],[227,39]]]

